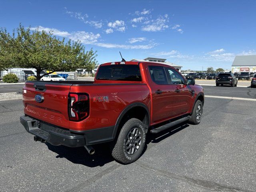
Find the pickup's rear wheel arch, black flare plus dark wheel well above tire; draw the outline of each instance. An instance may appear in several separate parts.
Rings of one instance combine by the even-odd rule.
[[[130,118],[138,118],[145,126],[146,132],[150,126],[150,112],[144,103],[136,102],[128,105],[118,116],[112,138],[115,138],[122,125]]]

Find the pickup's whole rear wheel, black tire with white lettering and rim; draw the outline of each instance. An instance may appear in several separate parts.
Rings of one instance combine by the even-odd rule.
[[[131,118],[110,145],[112,156],[117,162],[130,164],[140,158],[145,142],[144,124],[136,118]]]

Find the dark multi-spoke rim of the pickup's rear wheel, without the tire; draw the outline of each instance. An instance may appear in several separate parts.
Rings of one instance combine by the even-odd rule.
[[[136,128],[132,128],[127,136],[126,136],[126,143],[125,143],[125,150],[129,155],[135,154],[141,144],[141,132]]]

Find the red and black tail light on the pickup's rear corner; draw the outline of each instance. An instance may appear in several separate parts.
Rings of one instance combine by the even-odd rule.
[[[89,116],[88,94],[70,93],[68,96],[68,116],[71,121],[81,121]]]

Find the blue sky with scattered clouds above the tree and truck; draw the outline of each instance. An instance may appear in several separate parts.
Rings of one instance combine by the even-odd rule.
[[[255,0],[0,0],[0,27],[53,30],[98,51],[97,60],[166,58],[183,66],[230,69],[256,54]]]

